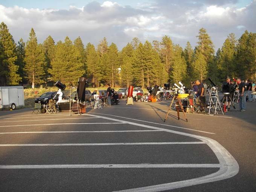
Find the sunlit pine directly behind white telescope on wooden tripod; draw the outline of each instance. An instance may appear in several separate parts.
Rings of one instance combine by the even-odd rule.
[[[172,82],[183,82],[186,79],[186,60],[182,55],[182,48],[179,45],[174,46],[173,64],[171,67],[170,79]]]

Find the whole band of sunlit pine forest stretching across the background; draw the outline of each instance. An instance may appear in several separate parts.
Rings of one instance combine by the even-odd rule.
[[[80,76],[86,76],[93,87],[110,83],[111,87],[146,88],[178,81],[188,85],[208,77],[217,83],[228,76],[256,80],[256,33],[246,30],[238,40],[229,34],[216,53],[206,29],[201,28],[197,38],[197,46],[188,41],[184,49],[167,35],[152,43],[133,38],[119,51],[105,37],[96,47],[84,46],[80,37],[55,43],[49,36],[39,44],[32,28],[28,41],[21,38],[16,44],[2,22],[0,86],[29,83],[34,88],[58,80],[75,85]]]

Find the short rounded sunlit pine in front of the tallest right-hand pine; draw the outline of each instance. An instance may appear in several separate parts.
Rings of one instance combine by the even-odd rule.
[[[193,62],[193,73],[195,79],[200,79],[203,82],[207,77],[207,63],[204,59],[203,53],[196,51],[195,61]]]

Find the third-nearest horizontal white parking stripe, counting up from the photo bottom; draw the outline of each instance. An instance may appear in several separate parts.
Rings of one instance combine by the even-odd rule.
[[[27,134],[27,133],[126,133],[126,132],[159,132],[160,130],[125,130],[125,131],[21,131],[0,134]]]

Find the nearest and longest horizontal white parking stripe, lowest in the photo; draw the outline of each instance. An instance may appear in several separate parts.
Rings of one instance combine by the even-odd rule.
[[[72,168],[219,168],[219,164],[72,164],[72,165],[0,165],[0,169],[72,169]]]

